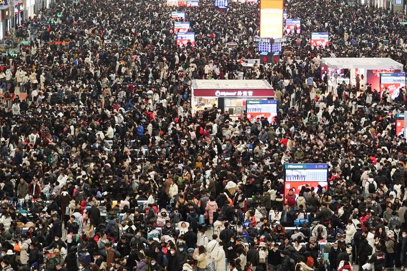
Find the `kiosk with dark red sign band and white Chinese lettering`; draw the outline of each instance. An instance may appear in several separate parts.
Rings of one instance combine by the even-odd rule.
[[[245,114],[246,100],[274,97],[266,80],[192,80],[192,112],[217,107],[231,118]]]

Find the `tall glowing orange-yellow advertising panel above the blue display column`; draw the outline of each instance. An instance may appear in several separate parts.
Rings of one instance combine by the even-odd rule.
[[[260,38],[283,37],[283,1],[260,1]]]

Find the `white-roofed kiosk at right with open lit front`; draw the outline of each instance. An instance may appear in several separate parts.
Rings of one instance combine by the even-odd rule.
[[[366,89],[380,90],[380,75],[383,73],[400,73],[403,65],[391,58],[380,57],[334,57],[322,58],[321,76],[328,76],[328,91],[337,95],[337,86],[345,82],[357,86],[357,91]]]

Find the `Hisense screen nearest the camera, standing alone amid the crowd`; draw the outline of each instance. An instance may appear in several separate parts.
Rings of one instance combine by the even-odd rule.
[[[284,165],[284,202],[290,189],[294,190],[296,199],[301,188],[308,185],[318,191],[318,185],[328,190],[328,164],[285,164]]]

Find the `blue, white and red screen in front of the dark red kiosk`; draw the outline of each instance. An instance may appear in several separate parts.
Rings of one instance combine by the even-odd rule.
[[[246,101],[246,117],[249,121],[256,118],[265,117],[269,123],[274,123],[274,118],[277,116],[278,104],[277,100],[247,100]]]

